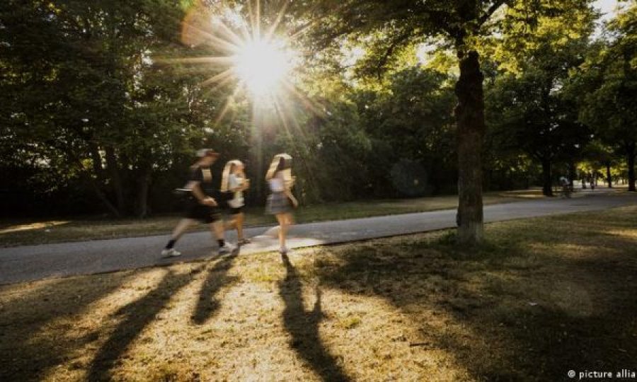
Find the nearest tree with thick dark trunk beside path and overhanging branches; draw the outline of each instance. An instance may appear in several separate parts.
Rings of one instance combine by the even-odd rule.
[[[559,13],[583,1],[520,1],[524,23],[533,23],[540,13]],[[587,2],[584,1],[586,4]],[[483,232],[482,141],[485,133],[483,74],[478,45],[495,32],[493,14],[514,1],[299,1],[292,8],[311,22],[312,48],[325,42],[339,44],[343,36],[364,41],[369,48],[372,71],[390,68],[409,47],[442,37],[457,54],[459,78],[455,86],[457,106],[459,228],[461,243],[477,243]],[[520,13],[505,13],[505,18]]]

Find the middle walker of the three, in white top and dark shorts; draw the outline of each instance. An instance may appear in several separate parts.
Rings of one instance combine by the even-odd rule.
[[[226,163],[222,175],[221,192],[232,192],[232,199],[228,201],[232,220],[226,224],[226,228],[236,228],[237,245],[250,243],[248,239],[243,237],[243,207],[246,205],[243,191],[247,190],[248,187],[250,187],[250,180],[246,179],[243,163],[238,160]]]

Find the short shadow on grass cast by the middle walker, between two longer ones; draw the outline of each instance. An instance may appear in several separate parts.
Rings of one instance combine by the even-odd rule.
[[[239,256],[239,251],[240,248],[236,248],[230,255],[222,257],[214,267],[208,270],[207,277],[201,286],[199,299],[197,299],[195,313],[193,313],[193,323],[197,325],[206,323],[219,308],[219,300],[215,296],[224,285],[237,279],[237,277],[229,277],[227,273],[236,257]]]

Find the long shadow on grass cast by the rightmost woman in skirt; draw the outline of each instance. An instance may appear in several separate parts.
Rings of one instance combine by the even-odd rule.
[[[323,346],[319,337],[321,322],[321,291],[316,289],[316,302],[311,311],[305,311],[302,283],[287,255],[282,255],[287,274],[279,284],[285,303],[283,323],[292,335],[292,348],[319,374],[323,381],[349,381],[334,357]]]

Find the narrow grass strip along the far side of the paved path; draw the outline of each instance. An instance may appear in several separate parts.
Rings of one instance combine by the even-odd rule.
[[[487,193],[484,204],[517,202],[543,197],[541,190],[523,190]],[[367,216],[406,214],[436,209],[456,208],[456,196],[423,197],[418,199],[368,200],[339,204],[319,204],[301,207],[295,213],[299,223],[337,219],[354,219]],[[103,238],[163,235],[170,233],[180,216],[153,217],[150,219],[53,219],[0,221],[0,248],[15,245],[61,243]],[[263,207],[248,209],[246,226],[275,225],[272,216],[264,214]],[[205,225],[194,228],[207,230]]]

